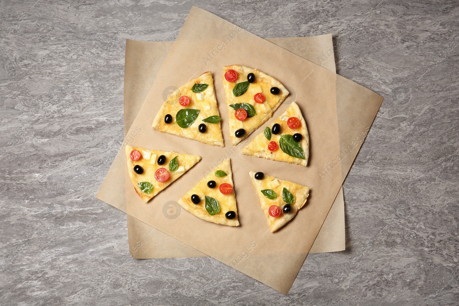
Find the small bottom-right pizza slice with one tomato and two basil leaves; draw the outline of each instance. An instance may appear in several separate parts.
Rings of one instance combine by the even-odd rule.
[[[250,176],[271,233],[293,219],[308,199],[309,187],[264,175],[263,172],[251,171]]]

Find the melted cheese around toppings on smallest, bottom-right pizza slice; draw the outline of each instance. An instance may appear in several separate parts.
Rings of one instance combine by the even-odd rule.
[[[257,195],[260,198],[261,208],[268,221],[268,226],[271,232],[275,232],[287,222],[289,222],[297,211],[306,203],[309,196],[309,187],[298,185],[289,181],[284,181],[274,176],[265,175],[262,180],[255,179],[255,172],[251,171],[250,176],[252,177],[252,183],[257,190]],[[279,206],[280,209],[285,205],[285,201],[282,199],[282,190],[286,188],[295,197],[295,202],[291,205],[291,211],[288,214],[281,212],[279,217],[271,217],[269,215],[269,207],[272,205]],[[276,193],[277,197],[274,200],[268,199],[263,195],[261,190],[272,189]]]

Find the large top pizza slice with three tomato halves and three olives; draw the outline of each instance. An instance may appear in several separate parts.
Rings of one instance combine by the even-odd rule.
[[[229,110],[229,136],[237,145],[271,118],[288,90],[275,78],[241,65],[224,66],[223,85]]]

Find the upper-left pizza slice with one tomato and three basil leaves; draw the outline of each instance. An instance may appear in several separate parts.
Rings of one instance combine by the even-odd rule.
[[[208,145],[223,147],[212,73],[204,72],[176,89],[159,109],[152,127]]]

